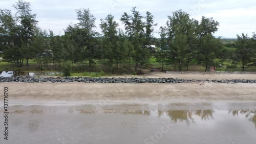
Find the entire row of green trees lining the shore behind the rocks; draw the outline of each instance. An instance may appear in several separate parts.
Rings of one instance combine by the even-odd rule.
[[[190,61],[203,64],[205,70],[215,65],[215,59],[232,60],[233,65],[255,66],[255,41],[247,35],[238,35],[236,42],[223,42],[213,34],[219,22],[202,16],[200,21],[178,10],[167,17],[160,28],[161,38],[154,38],[154,16],[142,15],[132,8],[124,12],[120,20],[125,26],[119,29],[114,16],[101,18],[101,33],[95,31],[95,17],[89,9],[78,9],[76,24],[70,24],[64,35],[54,35],[41,30],[30,3],[18,1],[13,5],[16,13],[0,9],[0,51],[2,57],[16,66],[36,64],[39,69],[59,69],[63,62],[73,65],[88,61],[88,67],[101,63],[104,71],[131,73],[147,67],[148,60],[156,57],[158,62],[173,64],[175,69],[188,67]],[[152,51],[148,45],[159,49]],[[163,64],[162,64],[163,67]]]

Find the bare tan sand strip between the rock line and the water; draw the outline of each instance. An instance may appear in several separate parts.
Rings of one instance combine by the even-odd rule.
[[[256,84],[0,83],[9,99],[63,101],[255,101]]]

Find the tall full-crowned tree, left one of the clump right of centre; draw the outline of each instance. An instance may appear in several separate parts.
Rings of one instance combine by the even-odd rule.
[[[172,16],[168,16],[166,26],[161,31],[165,31],[167,35],[168,45],[171,49],[169,52],[174,61],[174,67],[178,63],[179,71],[182,66],[188,63],[191,57],[191,46],[195,38],[195,30],[193,29],[194,20],[189,18],[189,14],[178,10]]]

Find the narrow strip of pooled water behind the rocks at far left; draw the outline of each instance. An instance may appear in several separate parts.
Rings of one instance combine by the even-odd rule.
[[[30,76],[30,77],[36,77],[36,76],[58,76],[60,75],[59,72],[49,72],[49,73],[25,73],[22,71],[2,71],[0,72],[0,77],[13,77],[13,76]]]

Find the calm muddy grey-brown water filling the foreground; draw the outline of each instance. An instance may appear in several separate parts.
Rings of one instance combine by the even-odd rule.
[[[0,143],[255,143],[256,103],[12,105]],[[3,115],[3,107],[1,115]],[[4,119],[0,118],[3,133]]]

